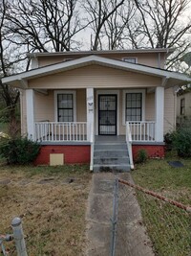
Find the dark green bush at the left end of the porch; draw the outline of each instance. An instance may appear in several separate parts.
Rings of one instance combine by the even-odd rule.
[[[40,145],[27,137],[1,138],[0,155],[9,164],[28,164],[37,156]]]

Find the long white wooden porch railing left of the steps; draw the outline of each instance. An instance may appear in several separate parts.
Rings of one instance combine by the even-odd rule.
[[[87,141],[86,122],[37,122],[35,140],[40,142]]]

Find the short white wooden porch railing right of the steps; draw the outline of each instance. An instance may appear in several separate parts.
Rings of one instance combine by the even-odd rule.
[[[155,122],[154,121],[135,121],[127,122],[132,135],[132,141],[154,142],[155,141]]]

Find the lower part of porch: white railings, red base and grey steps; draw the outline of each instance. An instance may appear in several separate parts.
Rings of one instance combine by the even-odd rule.
[[[50,155],[62,154],[64,163],[89,163],[90,170],[129,171],[138,150],[163,157],[164,145],[155,138],[155,122],[127,122],[125,135],[95,135],[86,122],[37,122],[35,140],[42,145],[35,164],[50,164]]]

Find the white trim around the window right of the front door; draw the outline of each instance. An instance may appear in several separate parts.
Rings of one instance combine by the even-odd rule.
[[[125,121],[125,101],[126,101],[126,93],[141,93],[142,94],[142,120],[145,120],[145,89],[134,89],[134,90],[123,90],[122,92],[122,125],[126,126]]]

